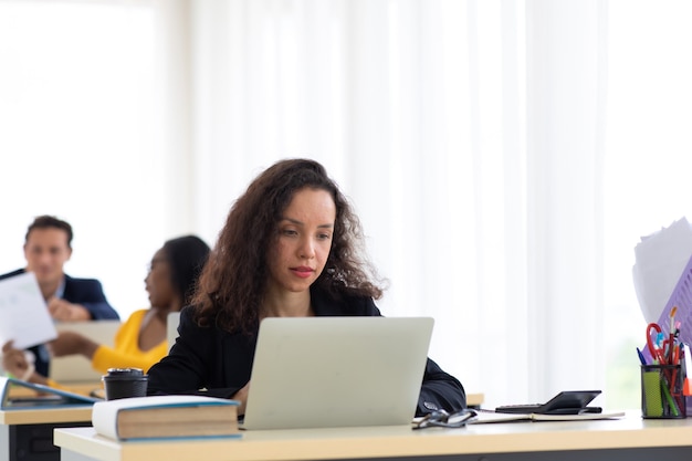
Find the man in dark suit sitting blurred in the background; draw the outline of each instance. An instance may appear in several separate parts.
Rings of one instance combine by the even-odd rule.
[[[33,272],[55,321],[118,319],[99,281],[74,279],[64,273],[63,265],[72,255],[72,237],[70,223],[51,216],[38,217],[24,239],[27,268],[2,274],[0,280]],[[29,350],[35,356],[36,371],[48,376],[50,356],[45,347],[34,346]]]

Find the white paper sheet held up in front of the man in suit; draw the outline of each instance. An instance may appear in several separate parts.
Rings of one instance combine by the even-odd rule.
[[[0,345],[13,339],[24,349],[56,336],[33,272],[0,280]]]

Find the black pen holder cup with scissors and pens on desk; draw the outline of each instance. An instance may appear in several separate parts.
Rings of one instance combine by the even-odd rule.
[[[686,418],[684,376],[680,365],[641,366],[641,416],[647,419]]]

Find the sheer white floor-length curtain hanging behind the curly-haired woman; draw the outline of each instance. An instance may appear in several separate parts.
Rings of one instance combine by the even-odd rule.
[[[602,388],[599,1],[199,0],[193,208],[323,161],[430,355],[489,405]],[[511,385],[508,385],[511,384]]]

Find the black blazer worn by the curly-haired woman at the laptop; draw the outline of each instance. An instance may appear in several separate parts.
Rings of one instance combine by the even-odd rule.
[[[379,316],[371,298],[327,300],[311,290],[317,316]],[[216,326],[200,327],[191,318],[192,310],[180,313],[179,337],[168,356],[149,369],[149,395],[199,394],[231,398],[250,380],[256,331],[252,336],[229,333]],[[436,409],[454,411],[466,406],[464,388],[457,378],[428,359],[416,413]]]

